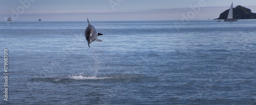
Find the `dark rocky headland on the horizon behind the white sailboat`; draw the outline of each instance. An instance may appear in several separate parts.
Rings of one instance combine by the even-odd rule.
[[[228,10],[222,12],[217,19],[227,19]],[[252,13],[250,9],[243,6],[237,6],[233,8],[233,18],[237,19],[256,19],[256,13]],[[216,20],[216,19],[214,19]]]

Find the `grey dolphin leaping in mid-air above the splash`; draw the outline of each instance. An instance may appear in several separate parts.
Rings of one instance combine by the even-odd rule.
[[[90,47],[89,44],[91,44],[91,42],[97,40],[97,41],[102,41],[100,39],[98,39],[98,36],[103,35],[97,32],[97,30],[93,27],[93,25],[90,24],[88,18],[88,27],[86,28],[86,32],[84,33],[84,36],[86,37],[86,40],[88,42],[88,46]]]

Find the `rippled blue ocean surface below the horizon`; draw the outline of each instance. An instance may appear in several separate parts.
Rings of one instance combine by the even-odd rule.
[[[90,23],[0,22],[0,103],[256,104],[256,20]]]

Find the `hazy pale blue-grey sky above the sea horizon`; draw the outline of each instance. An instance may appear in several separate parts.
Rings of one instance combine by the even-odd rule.
[[[256,13],[255,0],[0,0],[0,21],[214,19],[232,2]]]

